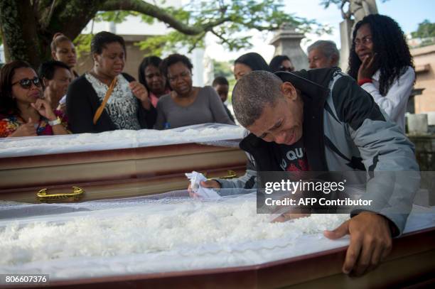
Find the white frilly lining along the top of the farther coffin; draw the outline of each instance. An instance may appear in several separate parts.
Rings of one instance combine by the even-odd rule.
[[[215,146],[238,147],[238,141],[230,140],[240,140],[244,137],[244,133],[245,129],[241,126],[197,124],[164,131],[141,129],[139,131],[119,130],[63,136],[0,138],[0,158],[167,146],[178,143],[207,143]]]

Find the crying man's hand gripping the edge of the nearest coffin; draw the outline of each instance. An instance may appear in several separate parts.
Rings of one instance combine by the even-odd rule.
[[[355,276],[375,269],[390,254],[392,248],[387,219],[372,212],[362,212],[324,234],[329,239],[339,239],[350,234],[343,273],[352,273]]]

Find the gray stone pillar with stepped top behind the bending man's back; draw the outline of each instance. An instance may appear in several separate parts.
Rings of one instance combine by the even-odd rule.
[[[269,44],[275,46],[275,55],[287,55],[296,70],[308,69],[307,56],[301,48],[304,33],[295,31],[294,26],[284,23]]]

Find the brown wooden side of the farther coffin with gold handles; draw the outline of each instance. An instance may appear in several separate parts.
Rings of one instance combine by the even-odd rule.
[[[64,194],[73,186],[85,190],[82,201],[184,190],[186,172],[218,178],[235,170],[243,175],[246,160],[239,148],[200,143],[0,158],[0,199],[38,202],[41,189]]]

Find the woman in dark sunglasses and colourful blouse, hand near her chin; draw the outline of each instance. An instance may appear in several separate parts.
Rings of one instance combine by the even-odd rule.
[[[0,70],[0,137],[67,134],[61,111],[41,99],[42,83],[24,61],[9,62]]]

